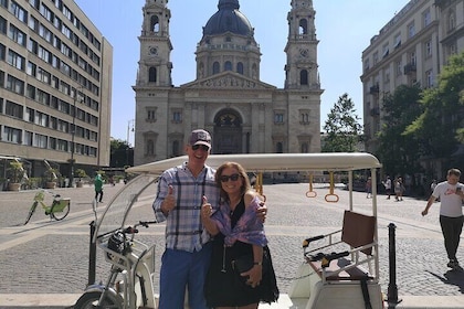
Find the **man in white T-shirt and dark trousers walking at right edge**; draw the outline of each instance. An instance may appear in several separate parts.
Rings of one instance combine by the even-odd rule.
[[[436,184],[429,198],[425,210],[422,211],[422,215],[426,215],[432,204],[440,198],[440,225],[447,258],[450,259],[446,266],[452,269],[460,268],[456,252],[460,246],[461,232],[464,223],[462,206],[464,200],[464,184],[458,182],[460,177],[461,171],[458,169],[450,169],[447,171],[446,181]]]

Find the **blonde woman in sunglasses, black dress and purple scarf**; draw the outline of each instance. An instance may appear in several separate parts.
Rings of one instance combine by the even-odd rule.
[[[267,239],[256,214],[263,196],[252,190],[245,170],[236,162],[223,163],[214,179],[220,188],[219,210],[213,213],[208,196],[201,210],[202,223],[214,236],[204,288],[208,306],[255,309],[260,301],[276,301],[278,289]],[[238,273],[234,263],[244,256],[251,256],[251,268]]]

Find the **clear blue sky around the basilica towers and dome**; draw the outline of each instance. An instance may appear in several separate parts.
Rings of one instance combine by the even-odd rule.
[[[114,49],[112,137],[126,140],[135,118],[135,85],[139,60],[138,35],[145,0],[75,0]],[[179,86],[196,77],[194,51],[202,28],[218,11],[218,0],[169,0],[172,82]],[[321,88],[320,125],[344,93],[348,93],[362,119],[361,53],[370,39],[409,0],[314,0]],[[261,46],[261,79],[284,86],[284,47],[288,34],[291,0],[241,0],[240,11],[255,29]],[[130,122],[131,125],[131,122]],[[129,135],[134,145],[134,136]]]

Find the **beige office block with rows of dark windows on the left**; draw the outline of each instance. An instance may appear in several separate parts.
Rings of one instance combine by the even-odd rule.
[[[108,166],[113,46],[98,29],[74,1],[0,0],[0,154],[32,177],[43,159],[63,175]]]

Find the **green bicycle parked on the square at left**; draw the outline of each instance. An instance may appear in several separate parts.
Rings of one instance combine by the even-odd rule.
[[[53,201],[51,205],[46,205],[44,202],[45,192],[51,193],[53,195]],[[61,221],[66,217],[71,210],[71,199],[62,199],[60,194],[41,190],[38,193],[35,193],[34,202],[32,203],[31,209],[29,210],[24,225],[28,224],[28,222],[31,220],[39,204],[42,205],[42,209],[45,211],[45,215],[50,215],[50,220],[54,219],[56,221]]]

